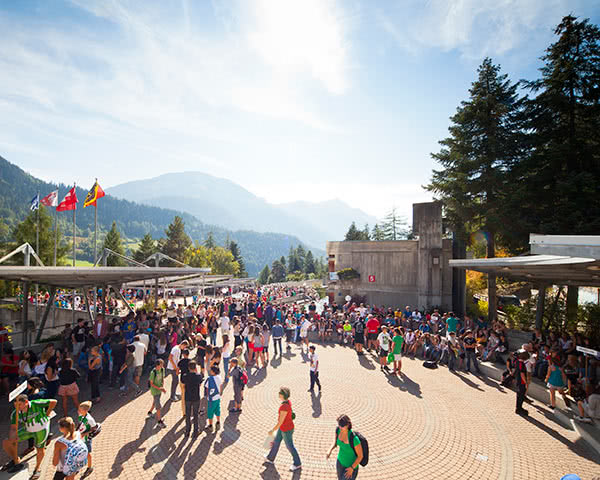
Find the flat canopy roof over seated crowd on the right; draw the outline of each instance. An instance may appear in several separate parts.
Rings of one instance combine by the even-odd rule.
[[[600,287],[600,260],[566,255],[450,260],[450,266],[525,282]]]

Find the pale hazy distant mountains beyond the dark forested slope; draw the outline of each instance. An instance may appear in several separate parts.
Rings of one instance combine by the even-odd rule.
[[[360,226],[375,223],[374,217],[340,200],[275,205],[230,180],[202,172],[168,173],[106,191],[118,198],[181,210],[225,228],[286,232],[321,249],[328,240],[342,240],[353,221]]]

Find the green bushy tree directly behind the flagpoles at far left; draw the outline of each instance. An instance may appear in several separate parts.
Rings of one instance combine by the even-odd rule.
[[[40,231],[39,231],[39,251],[36,252],[40,260],[46,266],[54,262],[54,220],[43,205],[40,205]],[[13,236],[18,245],[25,242],[29,243],[35,249],[35,232],[37,228],[37,212],[30,212],[25,220],[19,223],[13,232]],[[58,227],[57,227],[58,228]],[[71,247],[62,242],[62,232],[58,228],[58,242],[56,249],[56,264],[66,264],[66,258]],[[8,253],[8,252],[7,252]],[[33,262],[34,260],[32,260]],[[33,265],[33,263],[32,263]]]

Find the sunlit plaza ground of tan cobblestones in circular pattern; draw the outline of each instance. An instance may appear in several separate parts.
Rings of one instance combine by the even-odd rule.
[[[341,413],[369,439],[370,462],[361,468],[361,479],[550,480],[573,472],[584,480],[600,478],[600,458],[558,424],[545,405],[535,402],[528,407],[529,418],[517,416],[514,392],[495,381],[453,375],[444,367],[428,370],[410,359],[404,360],[405,375],[398,379],[380,372],[370,354],[358,359],[349,348],[321,345],[317,352],[321,395],[307,392],[308,364],[293,347],[251,376],[241,415],[227,411],[229,385],[221,430],[203,432],[195,440],[183,436],[179,402],[167,402],[167,428],[161,430],[146,420],[148,392],[129,401],[107,393],[92,412],[103,428],[94,440],[95,470],[88,478],[333,479],[335,457],[326,460],[325,454]],[[303,464],[293,474],[284,445],[274,465],[263,464],[262,444],[276,423],[281,385],[292,389],[294,441]],[[50,456],[43,479],[53,475]]]

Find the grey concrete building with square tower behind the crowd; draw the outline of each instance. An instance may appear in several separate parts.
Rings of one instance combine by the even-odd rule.
[[[329,300],[360,295],[369,304],[452,309],[452,240],[442,236],[441,204],[413,205],[413,233],[416,240],[327,242]],[[346,268],[360,278],[336,279]]]

